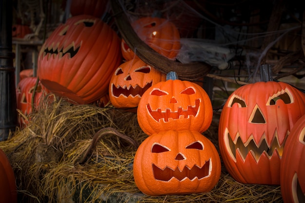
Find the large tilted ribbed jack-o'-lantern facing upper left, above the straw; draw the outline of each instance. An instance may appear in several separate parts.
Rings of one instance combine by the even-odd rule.
[[[108,93],[120,63],[117,34],[101,19],[80,15],[59,25],[42,45],[38,77],[56,95],[89,104]]]

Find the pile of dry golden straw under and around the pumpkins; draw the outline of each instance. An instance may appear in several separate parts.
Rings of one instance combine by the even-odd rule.
[[[51,99],[50,99],[51,98]],[[243,185],[222,168],[209,193],[143,195],[133,181],[133,157],[147,135],[136,113],[108,105],[72,105],[47,95],[0,148],[14,169],[22,203],[280,203],[280,186]],[[204,134],[218,148],[217,123]]]

